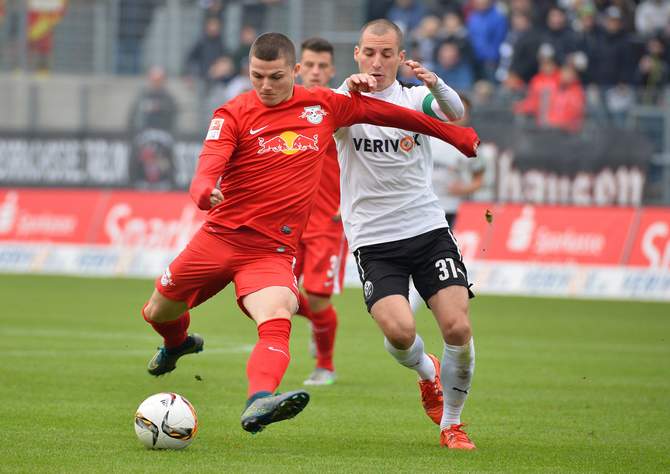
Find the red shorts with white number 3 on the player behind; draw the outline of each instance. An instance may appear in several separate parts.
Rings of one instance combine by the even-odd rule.
[[[318,296],[338,294],[344,282],[349,246],[344,232],[303,239],[298,246],[295,274],[302,276],[302,287]]]

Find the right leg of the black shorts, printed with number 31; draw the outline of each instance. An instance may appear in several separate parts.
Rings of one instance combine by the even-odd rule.
[[[474,296],[460,250],[448,228],[423,234],[413,244],[414,286],[429,306],[433,295],[450,286],[463,287],[468,296]]]

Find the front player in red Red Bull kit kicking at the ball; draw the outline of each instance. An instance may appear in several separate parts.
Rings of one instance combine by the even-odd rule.
[[[189,310],[235,283],[238,305],[258,331],[241,417],[242,428],[255,433],[293,418],[309,402],[304,390],[273,393],[290,360],[298,307],[294,256],[333,131],[361,122],[403,127],[449,141],[468,156],[479,140],[470,128],[358,93],[295,85],[295,47],[280,33],[259,36],[249,59],[253,90],[214,112],[191,182],[191,197],[208,210],[207,219],[156,280],[142,313],[164,339],[148,366],[162,375],[203,348],[201,336],[187,333]],[[375,85],[372,76],[359,81]]]

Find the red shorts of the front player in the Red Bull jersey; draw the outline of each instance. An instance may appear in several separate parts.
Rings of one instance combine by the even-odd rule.
[[[252,230],[206,230],[203,225],[186,248],[156,279],[156,289],[166,298],[185,301],[194,308],[208,300],[231,281],[235,283],[237,303],[269,286],[285,286],[296,297],[298,286],[293,274],[293,256],[272,252],[267,237]]]

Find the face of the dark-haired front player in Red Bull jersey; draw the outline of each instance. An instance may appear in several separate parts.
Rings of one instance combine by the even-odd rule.
[[[298,65],[294,67],[280,57],[273,61],[263,61],[252,56],[249,61],[249,79],[258,98],[268,107],[290,99]]]

